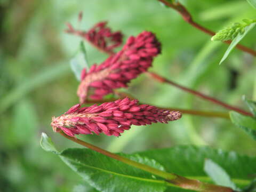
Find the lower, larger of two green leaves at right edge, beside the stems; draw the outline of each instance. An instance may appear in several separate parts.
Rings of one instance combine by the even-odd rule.
[[[256,119],[235,111],[230,111],[229,115],[232,123],[245,130],[246,133],[256,140]]]

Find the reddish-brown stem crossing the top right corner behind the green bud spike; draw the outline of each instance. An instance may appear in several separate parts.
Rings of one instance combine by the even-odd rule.
[[[182,4],[180,4],[180,3],[171,3],[167,0],[158,0],[158,1],[164,3],[166,6],[169,6],[172,9],[178,11],[181,14],[183,20],[185,20],[191,26],[203,31],[205,34],[208,34],[208,35],[211,35],[211,36],[215,35],[215,32],[213,32],[210,29],[207,29],[207,28],[199,25],[198,23],[196,23],[193,20],[191,14],[187,11],[186,7],[183,6]],[[230,44],[231,41],[225,41],[224,43]],[[247,53],[249,53],[253,56],[256,56],[256,51],[250,49],[249,47],[246,47],[246,46],[243,46],[243,45],[240,45],[240,44],[237,44],[236,47],[237,47],[237,49],[239,49],[241,51],[244,51],[244,52],[247,52]]]

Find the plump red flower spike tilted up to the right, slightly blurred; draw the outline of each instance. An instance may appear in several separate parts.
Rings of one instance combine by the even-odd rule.
[[[102,99],[113,89],[126,87],[131,79],[147,71],[153,58],[160,52],[161,44],[153,33],[143,31],[137,37],[131,36],[121,51],[99,66],[94,64],[88,73],[86,69],[82,71],[77,90],[80,102],[85,102],[89,91],[92,92],[90,98]]]

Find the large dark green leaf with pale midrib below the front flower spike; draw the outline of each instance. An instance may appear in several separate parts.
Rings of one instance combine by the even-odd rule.
[[[159,170],[163,166],[140,155],[121,156]],[[166,182],[154,175],[90,149],[66,149],[60,157],[68,166],[99,191],[164,191]]]

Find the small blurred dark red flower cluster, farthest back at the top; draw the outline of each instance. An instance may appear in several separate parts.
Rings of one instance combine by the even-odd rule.
[[[122,44],[123,34],[121,31],[112,32],[106,25],[107,22],[99,22],[89,31],[80,31],[75,30],[70,23],[68,23],[68,29],[66,32],[85,38],[101,51],[113,53],[113,49]]]

